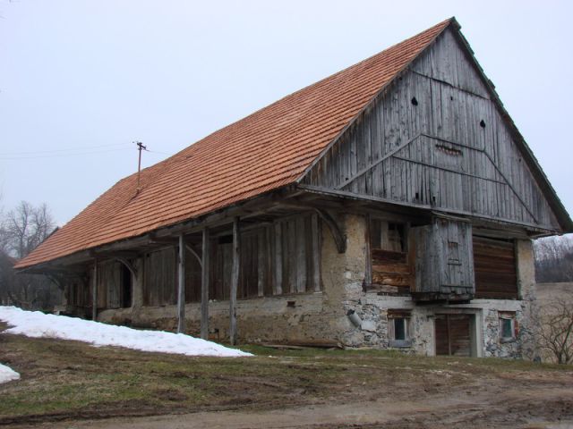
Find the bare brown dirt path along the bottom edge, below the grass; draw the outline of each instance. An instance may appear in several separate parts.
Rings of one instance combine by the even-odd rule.
[[[352,400],[352,398],[348,398]],[[37,426],[38,427],[38,426]],[[458,391],[420,400],[372,400],[264,412],[223,411],[40,425],[50,429],[186,428],[573,428],[573,386]]]

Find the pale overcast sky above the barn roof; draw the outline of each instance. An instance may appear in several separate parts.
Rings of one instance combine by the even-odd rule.
[[[4,209],[69,221],[136,171],[455,15],[573,212],[571,2],[0,0]]]

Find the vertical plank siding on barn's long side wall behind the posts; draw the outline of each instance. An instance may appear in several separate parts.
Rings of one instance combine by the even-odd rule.
[[[316,214],[299,214],[242,231],[237,298],[321,290],[318,224]],[[230,235],[210,238],[210,299],[229,299],[232,247]],[[201,255],[199,247],[195,250]],[[174,305],[176,248],[151,252],[145,258],[144,305]],[[189,251],[185,253],[185,301],[201,301],[201,264]]]

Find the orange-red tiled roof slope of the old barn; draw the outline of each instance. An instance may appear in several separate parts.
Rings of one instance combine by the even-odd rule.
[[[118,181],[17,268],[207,214],[295,182],[453,19],[391,46]]]

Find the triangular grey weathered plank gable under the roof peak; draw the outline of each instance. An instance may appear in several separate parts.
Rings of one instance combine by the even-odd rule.
[[[450,31],[346,130],[303,183],[559,229]]]

